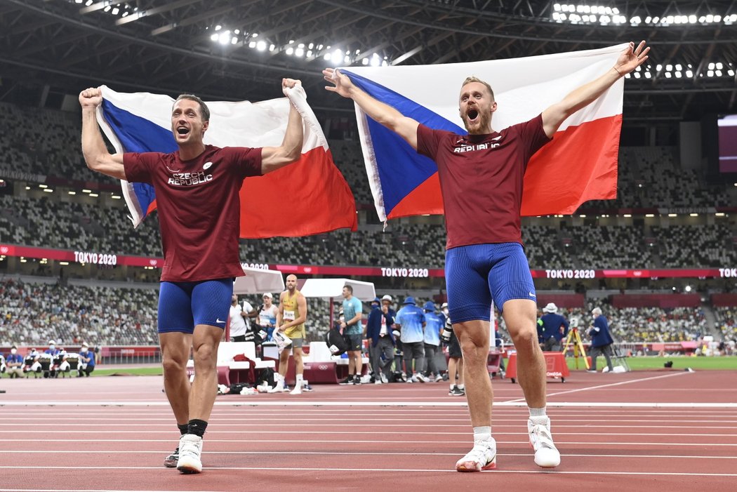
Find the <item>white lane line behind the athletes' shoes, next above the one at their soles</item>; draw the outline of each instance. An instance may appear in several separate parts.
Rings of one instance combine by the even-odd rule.
[[[23,450],[23,449],[4,449],[2,451],[4,454],[49,454],[49,451],[41,451],[38,449],[32,449],[32,450]],[[161,454],[166,453],[167,451],[150,451],[150,450],[136,450],[136,451],[109,451],[105,450],[105,454]],[[55,450],[54,454],[90,454],[90,451],[88,449],[83,450],[74,450],[74,451],[58,451]],[[412,456],[458,456],[458,452],[455,453],[439,453],[439,452],[433,452],[433,453],[418,453],[416,451],[412,451],[411,453],[408,452],[391,452],[391,451],[377,451],[377,452],[360,452],[360,451],[206,451],[206,454],[286,454],[286,455],[292,455],[292,454],[315,454],[315,455],[321,455],[321,454],[327,454],[327,455],[351,455],[351,456],[407,456],[408,454],[412,454]],[[497,453],[497,456],[502,457],[528,457],[531,456],[530,453]],[[581,458],[587,458],[587,457],[593,457],[593,458],[656,458],[656,459],[663,459],[663,460],[682,460],[682,459],[694,459],[694,460],[737,460],[737,456],[708,456],[708,455],[695,455],[695,454],[568,454],[568,453],[561,453],[562,457],[581,457]]]

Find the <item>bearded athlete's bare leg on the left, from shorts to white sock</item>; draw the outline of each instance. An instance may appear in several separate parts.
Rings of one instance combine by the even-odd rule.
[[[466,399],[474,427],[492,425],[492,381],[486,369],[489,356],[489,322],[483,320],[454,323],[453,331],[463,352]]]

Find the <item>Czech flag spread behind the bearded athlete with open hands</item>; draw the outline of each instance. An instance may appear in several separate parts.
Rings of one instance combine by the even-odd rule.
[[[532,119],[614,66],[626,44],[583,52],[446,65],[340,68],[352,82],[400,113],[436,130],[465,135],[458,96],[466,77],[489,82],[498,109],[492,127]],[[528,164],[523,215],[571,214],[587,200],[617,196],[624,79],[570,116]],[[356,105],[366,172],[383,221],[442,214],[436,164]],[[493,193],[494,190],[489,190]]]

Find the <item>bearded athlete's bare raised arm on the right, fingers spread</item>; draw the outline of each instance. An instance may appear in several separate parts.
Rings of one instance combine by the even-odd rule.
[[[645,41],[640,41],[637,48],[635,48],[635,43],[629,43],[629,46],[621,52],[617,62],[612,68],[609,68],[606,74],[592,82],[581,85],[581,87],[565,96],[561,102],[557,102],[544,110],[542,112],[542,127],[545,130],[545,135],[552,138],[568,116],[590,105],[601,94],[604,94],[609,87],[614,85],[614,82],[645,63],[649,51],[650,47],[645,47]]]

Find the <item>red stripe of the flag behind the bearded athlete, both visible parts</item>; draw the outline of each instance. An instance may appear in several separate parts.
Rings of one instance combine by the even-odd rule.
[[[620,114],[557,132],[527,166],[522,215],[573,214],[588,200],[616,198],[621,127]],[[438,173],[397,203],[387,218],[420,214],[443,214]]]

